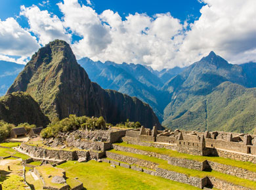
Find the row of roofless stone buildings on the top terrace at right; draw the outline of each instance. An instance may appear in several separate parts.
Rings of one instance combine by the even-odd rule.
[[[165,147],[192,155],[213,155],[256,163],[256,136],[232,132],[192,132],[149,128],[128,130],[123,141],[140,144],[154,142],[154,147]],[[144,144],[145,145],[145,144]],[[232,156],[236,155],[236,157]],[[240,155],[240,156],[237,156]]]

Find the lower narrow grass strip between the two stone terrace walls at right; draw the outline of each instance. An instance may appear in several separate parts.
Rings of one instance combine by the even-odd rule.
[[[234,184],[237,184],[237,185],[242,185],[244,187],[249,187],[251,189],[256,189],[256,182],[255,181],[245,180],[245,179],[242,179],[242,178],[237,178],[235,176],[230,176],[230,175],[227,175],[227,174],[223,174],[221,172],[216,172],[216,171],[205,172],[205,171],[199,171],[199,170],[192,170],[192,169],[188,169],[188,168],[182,168],[182,167],[179,167],[179,166],[173,166],[171,164],[168,164],[167,161],[164,161],[162,159],[158,159],[156,157],[148,157],[146,155],[138,155],[138,154],[135,154],[135,153],[116,151],[114,149],[110,150],[110,152],[117,153],[117,154],[120,154],[120,155],[125,155],[125,156],[128,156],[128,157],[135,157],[137,159],[142,159],[142,160],[145,160],[145,161],[155,162],[155,163],[159,164],[160,168],[175,171],[175,172],[179,172],[179,173],[182,173],[182,174],[186,174],[187,176],[195,176],[195,177],[199,177],[199,178],[204,178],[205,176],[213,176],[213,177],[218,178],[220,180],[229,181],[230,183],[234,183]]]

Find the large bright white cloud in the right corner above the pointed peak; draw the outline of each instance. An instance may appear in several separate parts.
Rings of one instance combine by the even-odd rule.
[[[233,64],[256,60],[256,3],[254,0],[203,0],[199,20],[186,32],[177,60],[186,64],[214,50]]]

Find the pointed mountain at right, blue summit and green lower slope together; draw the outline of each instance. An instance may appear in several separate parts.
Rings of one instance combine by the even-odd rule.
[[[256,119],[252,119],[255,88],[245,88],[253,86],[248,76],[242,66],[228,64],[210,52],[163,86],[171,93],[163,125],[186,130],[251,131]]]

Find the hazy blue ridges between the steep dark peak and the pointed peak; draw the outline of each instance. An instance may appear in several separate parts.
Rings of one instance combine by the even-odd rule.
[[[171,79],[181,68],[156,71],[140,64],[115,64],[114,62],[93,62],[89,58],[78,60],[87,71],[90,79],[103,88],[136,96],[149,104],[160,121],[163,121],[163,109],[169,104],[169,92],[161,90],[166,81]]]

